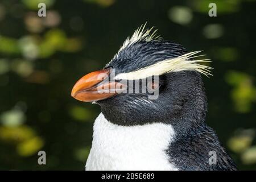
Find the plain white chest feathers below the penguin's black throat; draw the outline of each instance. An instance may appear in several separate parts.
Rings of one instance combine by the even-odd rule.
[[[177,170],[164,152],[173,138],[171,125],[118,126],[101,113],[94,122],[86,170]]]

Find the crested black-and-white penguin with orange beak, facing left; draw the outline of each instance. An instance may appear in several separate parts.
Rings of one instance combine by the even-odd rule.
[[[103,69],[73,86],[73,98],[101,107],[85,169],[237,170],[205,123],[201,75],[212,75],[212,68],[202,64],[209,60],[145,26]]]

